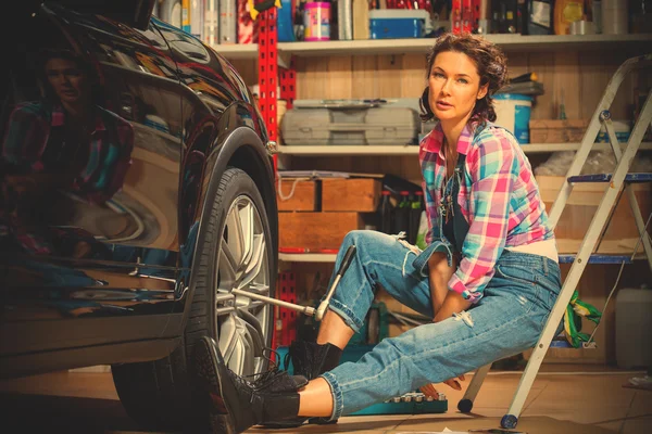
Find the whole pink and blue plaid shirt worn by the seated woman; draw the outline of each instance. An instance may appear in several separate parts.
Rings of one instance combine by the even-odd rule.
[[[419,144],[428,244],[443,238],[438,210],[446,179],[443,141],[438,125]],[[531,166],[512,133],[490,123],[485,128],[469,123],[457,152],[466,155],[457,203],[469,229],[448,285],[476,303],[504,247],[549,240],[554,233]]]

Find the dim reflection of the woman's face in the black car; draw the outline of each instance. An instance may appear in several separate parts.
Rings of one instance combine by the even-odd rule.
[[[46,63],[46,77],[62,103],[78,103],[87,97],[86,77],[75,62],[50,59]]]

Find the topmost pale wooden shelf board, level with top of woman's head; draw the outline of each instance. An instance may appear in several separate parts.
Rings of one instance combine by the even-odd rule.
[[[609,47],[619,49],[640,47],[645,49],[652,43],[652,34],[628,35],[486,35],[487,40],[498,43],[504,51],[567,51],[604,50]],[[331,40],[319,42],[279,42],[281,55],[322,56],[322,55],[373,55],[427,53],[432,47],[432,38],[414,39],[365,39]],[[256,59],[258,44],[215,44],[213,49],[227,59]]]

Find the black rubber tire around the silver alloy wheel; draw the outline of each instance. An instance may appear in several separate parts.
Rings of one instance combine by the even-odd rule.
[[[190,315],[186,321],[181,344],[167,357],[155,361],[126,363],[113,367],[116,391],[127,413],[141,424],[153,429],[203,429],[203,396],[193,384],[192,357],[195,344],[203,336],[217,341],[215,289],[220,243],[226,225],[226,216],[234,201],[247,195],[256,207],[267,248],[269,270],[269,296],[276,288],[275,252],[269,220],[259,188],[241,169],[229,167],[217,181],[217,191],[211,203],[209,222],[200,232],[202,251],[197,252],[193,267],[196,283]],[[273,309],[269,305],[265,345],[271,347],[274,333]],[[261,324],[265,327],[265,324]],[[268,368],[267,362],[262,369]]]

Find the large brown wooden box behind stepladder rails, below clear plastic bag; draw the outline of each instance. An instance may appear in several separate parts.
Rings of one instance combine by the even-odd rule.
[[[537,176],[536,179],[541,191],[541,199],[546,203],[546,209],[550,213],[557,192],[561,190],[562,184],[566,182],[566,179],[563,176]],[[595,215],[604,190],[607,188],[609,183],[606,182],[576,183],[573,187],[573,193],[568,197],[554,230],[560,253],[577,253],[591,219]],[[651,212],[650,184],[632,184],[632,188],[643,219],[647,219]],[[639,237],[629,200],[627,194],[624,193],[597,252],[630,254],[634,252],[634,246]],[[642,248],[642,244],[639,245],[640,252],[643,252]]]

